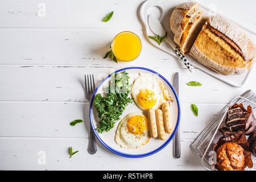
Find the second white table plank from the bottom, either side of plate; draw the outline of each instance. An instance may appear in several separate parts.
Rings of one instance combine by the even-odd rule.
[[[195,117],[190,111],[190,104],[181,104],[183,112],[180,125],[181,138],[195,139],[209,120],[224,106],[225,104],[197,104],[199,117]],[[9,118],[8,125],[6,122],[0,123],[2,137],[88,138],[89,104],[2,101],[0,107],[2,108],[0,115]],[[12,114],[10,110],[13,110]],[[85,122],[75,127],[69,126],[69,123],[75,119],[83,119]]]

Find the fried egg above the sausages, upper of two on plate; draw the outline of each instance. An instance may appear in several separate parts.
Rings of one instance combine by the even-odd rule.
[[[158,109],[163,103],[171,100],[163,81],[155,75],[146,73],[139,73],[139,77],[135,79],[131,96],[136,105],[144,111],[150,108]]]

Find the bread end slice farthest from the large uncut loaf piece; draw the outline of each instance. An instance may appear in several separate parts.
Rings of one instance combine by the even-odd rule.
[[[199,3],[187,2],[181,3],[175,8],[170,18],[170,27],[174,34],[176,34],[179,27],[184,30],[189,20],[199,10],[199,6]]]

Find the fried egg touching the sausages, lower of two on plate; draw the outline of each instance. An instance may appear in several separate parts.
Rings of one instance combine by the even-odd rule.
[[[138,148],[150,139],[147,117],[142,113],[126,115],[117,127],[115,142],[122,148]]]

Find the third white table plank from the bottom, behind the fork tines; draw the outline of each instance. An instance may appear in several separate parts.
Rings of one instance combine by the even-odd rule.
[[[121,66],[121,67],[119,67]],[[110,73],[126,67],[96,68],[63,65],[2,66],[0,67],[0,100],[16,101],[85,101],[84,74],[94,74],[96,83]],[[196,69],[191,73],[183,68],[153,68],[171,81],[176,71],[180,72],[180,101],[191,103],[228,103],[247,89],[254,89],[253,74],[242,88],[234,88]],[[253,70],[255,72],[255,70]],[[6,79],[6,77],[8,79]],[[203,86],[190,87],[189,81],[200,81]],[[10,84],[11,83],[11,84]]]

